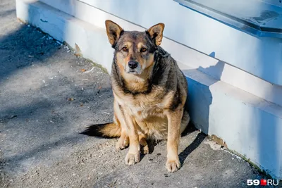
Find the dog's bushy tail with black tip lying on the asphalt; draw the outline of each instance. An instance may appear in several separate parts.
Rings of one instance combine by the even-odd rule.
[[[93,137],[121,137],[121,127],[116,123],[106,123],[99,125],[90,125],[87,129],[80,134],[85,134]]]

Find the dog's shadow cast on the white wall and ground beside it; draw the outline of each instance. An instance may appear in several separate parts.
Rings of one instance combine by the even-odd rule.
[[[214,57],[215,53],[212,52],[209,56]],[[183,73],[185,75],[199,75],[202,77],[202,85],[195,82],[194,80],[190,79],[190,77],[187,77],[188,80],[188,104],[189,104],[189,113],[190,118],[195,126],[200,129],[205,134],[199,133],[197,134],[197,137],[195,140],[186,147],[180,154],[180,163],[183,165],[185,159],[189,156],[189,154],[197,149],[197,147],[202,143],[204,138],[206,137],[206,134],[209,132],[209,108],[212,104],[212,93],[209,90],[208,86],[211,86],[212,84],[215,84],[221,79],[221,74],[224,68],[224,63],[219,61],[216,63],[216,65],[209,66],[208,68],[202,68],[199,67],[197,69],[191,69],[191,70],[183,70]],[[199,70],[203,73],[199,73]],[[215,75],[214,78],[210,78],[208,75],[204,73],[213,73]],[[209,82],[207,82],[205,77],[209,77]],[[202,114],[201,116],[195,115],[195,112],[197,114]],[[188,128],[189,130],[186,130],[187,132],[192,132],[193,130],[190,130],[191,127]]]

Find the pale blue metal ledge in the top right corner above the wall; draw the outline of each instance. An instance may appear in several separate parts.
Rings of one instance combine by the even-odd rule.
[[[258,0],[174,1],[251,35],[282,38],[282,3],[278,6],[278,2],[274,5]]]

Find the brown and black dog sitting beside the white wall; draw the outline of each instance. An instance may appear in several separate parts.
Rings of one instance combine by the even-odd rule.
[[[190,121],[188,82],[176,61],[160,46],[164,23],[145,32],[125,31],[111,20],[105,25],[114,48],[114,123],[98,126],[95,134],[119,137],[117,149],[129,146],[127,165],[140,162],[140,146],[143,153],[149,152],[148,139],[167,139],[166,169],[175,172],[180,168],[180,134]]]

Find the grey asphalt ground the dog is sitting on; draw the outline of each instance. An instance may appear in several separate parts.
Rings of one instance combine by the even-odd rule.
[[[14,0],[0,1],[0,25],[0,187],[248,187],[264,178],[193,128],[176,173],[166,172],[164,141],[126,166],[116,139],[79,134],[111,122],[109,75],[18,22]]]

